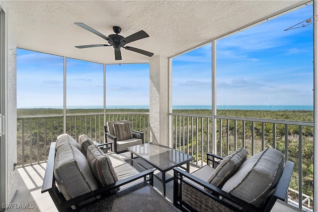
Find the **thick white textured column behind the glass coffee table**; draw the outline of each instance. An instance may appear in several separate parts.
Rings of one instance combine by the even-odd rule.
[[[169,92],[167,57],[150,59],[150,141],[169,146]]]

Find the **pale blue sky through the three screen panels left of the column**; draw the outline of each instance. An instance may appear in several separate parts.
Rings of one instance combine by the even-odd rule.
[[[63,57],[17,49],[17,107],[63,107]],[[103,64],[66,60],[67,108],[103,107]],[[30,74],[31,73],[31,74]],[[106,65],[106,105],[149,105],[149,64]]]

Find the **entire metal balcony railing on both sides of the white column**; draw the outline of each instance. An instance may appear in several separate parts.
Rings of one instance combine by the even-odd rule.
[[[216,142],[212,140],[212,116],[170,113],[172,148],[195,157],[194,165],[203,166],[207,152],[226,156],[245,147],[249,156],[273,147],[284,153],[285,160],[295,162],[288,202],[298,203],[299,209],[313,209],[302,197],[310,197],[313,189],[313,127],[314,123],[232,116],[215,116]],[[132,128],[145,133],[150,140],[149,112],[111,112],[60,115],[25,115],[17,117],[17,164],[20,167],[45,162],[49,146],[65,131],[74,138],[86,134],[92,140],[104,142],[104,118],[132,121]],[[273,133],[274,132],[274,133]],[[309,171],[308,171],[309,169]],[[296,192],[295,192],[296,191]],[[298,192],[298,195],[295,195]],[[313,193],[313,191],[312,191]],[[297,197],[296,197],[297,196]],[[303,207],[304,206],[304,207]]]

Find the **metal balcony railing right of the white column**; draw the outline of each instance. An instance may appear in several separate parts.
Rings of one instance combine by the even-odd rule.
[[[303,197],[310,196],[308,193],[313,195],[313,122],[217,115],[214,142],[211,115],[169,113],[169,116],[172,148],[193,155],[194,165],[205,165],[207,152],[227,156],[244,147],[251,156],[272,147],[284,153],[285,160],[295,162],[290,187]],[[306,201],[294,196],[290,194],[297,201],[297,207],[307,210]]]

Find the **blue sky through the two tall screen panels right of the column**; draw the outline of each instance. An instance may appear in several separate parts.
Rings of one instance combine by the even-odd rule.
[[[311,4],[218,40],[217,105],[313,105],[313,24],[284,31],[312,16]],[[211,48],[173,59],[173,105],[211,105]]]

